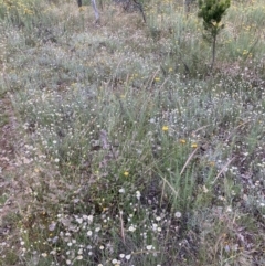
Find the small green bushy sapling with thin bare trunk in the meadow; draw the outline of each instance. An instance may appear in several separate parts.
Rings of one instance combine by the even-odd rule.
[[[224,28],[221,20],[229,8],[230,0],[199,0],[198,17],[203,19],[204,38],[212,43],[211,72],[215,62],[218,35]]]

